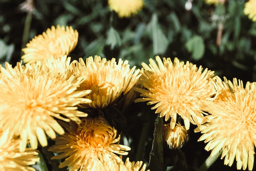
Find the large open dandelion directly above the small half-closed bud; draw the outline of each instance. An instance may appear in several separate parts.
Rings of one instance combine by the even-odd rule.
[[[163,58],[156,56],[157,64],[153,59],[149,60],[149,66],[142,63],[144,71],[141,76],[141,84],[146,89],[134,88],[141,93],[143,98],[135,102],[147,102],[148,105],[155,104],[151,109],[157,109],[160,117],[165,116],[167,121],[171,117],[171,129],[174,129],[177,114],[184,120],[186,129],[192,124],[200,124],[204,115],[200,108],[198,98],[212,100],[216,93],[211,83],[213,71],[202,66],[186,62],[180,62],[174,58]],[[203,72],[202,72],[203,71]]]

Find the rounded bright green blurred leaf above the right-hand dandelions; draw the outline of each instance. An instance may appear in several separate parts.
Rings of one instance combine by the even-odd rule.
[[[192,53],[194,60],[200,60],[204,55],[204,40],[201,36],[195,35],[185,44],[186,49]]]

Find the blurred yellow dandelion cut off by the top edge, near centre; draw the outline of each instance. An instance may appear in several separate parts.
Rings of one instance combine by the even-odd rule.
[[[136,14],[142,9],[143,4],[143,0],[108,0],[110,10],[116,11],[120,18]]]

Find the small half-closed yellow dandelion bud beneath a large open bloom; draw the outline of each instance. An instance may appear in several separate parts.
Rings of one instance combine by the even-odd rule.
[[[174,129],[171,129],[170,124],[164,124],[163,140],[167,142],[170,149],[181,149],[189,139],[189,134],[186,128],[180,124],[176,124]]]

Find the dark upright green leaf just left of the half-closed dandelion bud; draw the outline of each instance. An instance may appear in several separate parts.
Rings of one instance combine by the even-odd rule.
[[[164,170],[162,124],[163,119],[158,116],[155,120],[154,139],[148,163],[151,171]]]

